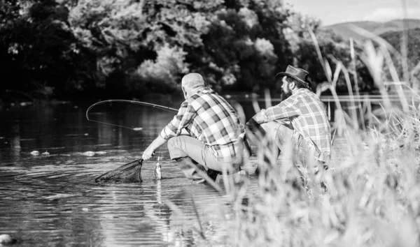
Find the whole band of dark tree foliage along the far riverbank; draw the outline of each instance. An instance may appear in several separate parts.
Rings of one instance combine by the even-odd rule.
[[[309,27],[330,64],[350,63],[346,40],[281,0],[3,0],[0,16],[0,87],[33,96],[165,93],[188,72],[260,92],[289,64],[323,82]]]

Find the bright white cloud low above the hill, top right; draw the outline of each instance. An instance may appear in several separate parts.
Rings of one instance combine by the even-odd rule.
[[[386,22],[389,20],[402,19],[403,13],[401,8],[377,8],[369,15],[365,15],[363,20],[374,22]],[[409,8],[407,10],[407,17],[412,19],[419,19],[420,8]]]

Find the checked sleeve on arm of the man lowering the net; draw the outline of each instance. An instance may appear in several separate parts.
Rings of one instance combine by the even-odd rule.
[[[160,131],[160,137],[168,140],[171,137],[181,135],[181,130],[186,128],[186,126],[193,121],[196,114],[197,112],[195,112],[195,109],[188,104],[187,101],[184,101],[174,119],[172,119],[172,121],[170,121],[167,126],[162,129],[162,131]]]

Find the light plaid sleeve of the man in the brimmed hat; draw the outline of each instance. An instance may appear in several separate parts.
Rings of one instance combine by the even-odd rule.
[[[286,100],[281,101],[279,105],[268,107],[266,110],[262,111],[264,121],[268,122],[299,115],[300,110],[297,101],[297,97],[290,96],[289,98],[286,98]]]

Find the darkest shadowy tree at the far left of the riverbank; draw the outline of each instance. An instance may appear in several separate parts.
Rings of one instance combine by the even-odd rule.
[[[0,29],[2,64],[8,66],[3,87],[50,96],[89,81],[65,6],[52,0],[18,1],[9,10],[13,19]]]

